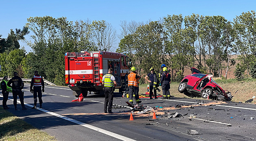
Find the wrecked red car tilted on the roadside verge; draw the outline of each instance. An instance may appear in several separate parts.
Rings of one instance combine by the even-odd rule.
[[[189,97],[202,97],[213,100],[231,101],[230,92],[223,90],[212,78],[213,75],[202,74],[191,67],[191,75],[185,76],[180,82],[178,91]]]

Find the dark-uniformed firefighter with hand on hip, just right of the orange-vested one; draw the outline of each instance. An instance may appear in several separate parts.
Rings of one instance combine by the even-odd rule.
[[[152,95],[153,95],[153,89],[154,89],[154,96],[155,96],[155,99],[157,99],[157,96],[156,96],[156,73],[154,72],[154,68],[151,67],[150,68],[150,73],[145,76],[145,80],[147,80],[149,83],[150,83],[150,99],[153,99],[152,98]],[[148,80],[149,78],[149,80]]]

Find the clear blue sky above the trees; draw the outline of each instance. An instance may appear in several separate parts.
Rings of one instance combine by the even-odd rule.
[[[7,38],[10,29],[20,28],[29,17],[67,17],[68,21],[105,20],[120,34],[120,21],[157,21],[167,15],[221,15],[233,21],[243,12],[256,11],[256,0],[1,0],[0,34]],[[31,35],[31,33],[30,33]],[[26,36],[30,40],[30,35]],[[118,47],[119,39],[114,45]],[[31,48],[25,46],[27,52]],[[115,49],[114,49],[115,50]]]

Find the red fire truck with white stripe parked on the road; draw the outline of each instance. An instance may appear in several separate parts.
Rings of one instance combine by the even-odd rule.
[[[66,84],[73,90],[73,95],[78,97],[80,93],[84,97],[88,91],[102,94],[102,76],[113,68],[119,92],[128,89],[126,81],[129,74],[131,60],[124,54],[104,51],[65,53],[65,77]]]

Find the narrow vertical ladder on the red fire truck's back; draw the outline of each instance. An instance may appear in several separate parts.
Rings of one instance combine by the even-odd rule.
[[[100,83],[100,54],[93,53],[93,83]]]

